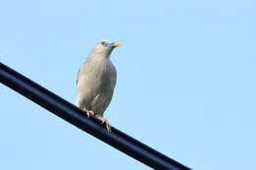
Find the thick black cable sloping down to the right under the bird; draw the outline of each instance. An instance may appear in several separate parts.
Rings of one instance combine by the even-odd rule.
[[[28,97],[33,102],[44,107],[72,125],[93,135],[102,142],[106,142],[131,157],[158,170],[189,170],[190,168],[170,159],[148,145],[138,142],[126,134],[112,129],[109,134],[100,122],[72,103],[64,100],[41,85],[37,85],[28,78],[5,66],[0,62],[0,82]],[[0,96],[1,97],[1,96]]]

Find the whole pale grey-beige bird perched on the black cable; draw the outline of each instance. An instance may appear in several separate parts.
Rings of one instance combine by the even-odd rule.
[[[110,61],[110,53],[120,43],[109,40],[96,42],[87,60],[81,65],[76,88],[76,105],[85,110],[88,118],[96,116],[106,130],[111,128],[103,112],[110,103],[116,84],[116,70]]]

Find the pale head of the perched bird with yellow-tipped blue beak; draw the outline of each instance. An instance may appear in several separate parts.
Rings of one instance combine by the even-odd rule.
[[[92,49],[91,55],[102,55],[108,58],[112,50],[119,45],[121,44],[101,39],[96,42],[95,46]]]

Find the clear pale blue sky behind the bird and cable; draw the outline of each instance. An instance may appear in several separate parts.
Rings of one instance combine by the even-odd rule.
[[[110,124],[195,170],[256,169],[253,0],[0,1],[0,62],[75,101],[99,39],[121,42]],[[151,169],[0,85],[0,169]]]

